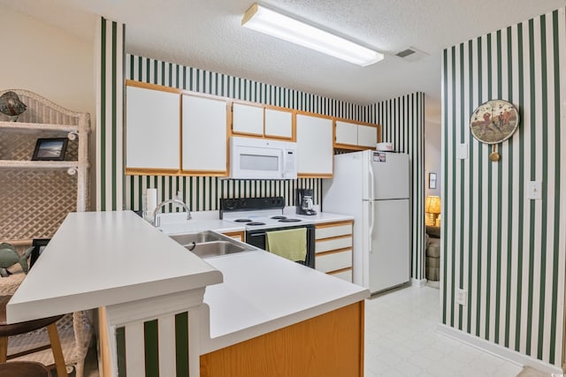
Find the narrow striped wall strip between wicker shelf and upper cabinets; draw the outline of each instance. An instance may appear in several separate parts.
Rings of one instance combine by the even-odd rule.
[[[101,17],[96,38],[96,210],[123,207],[126,26]]]

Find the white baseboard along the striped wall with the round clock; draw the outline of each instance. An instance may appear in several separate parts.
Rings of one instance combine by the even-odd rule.
[[[479,338],[478,336],[472,336],[468,333],[464,333],[463,331],[457,330],[455,328],[451,328],[447,325],[439,323],[437,325],[436,330],[444,336],[448,336],[457,341],[469,344],[470,346],[475,347],[478,350],[491,353],[493,356],[496,356],[498,358],[504,358],[510,361],[511,363],[516,364],[517,366],[531,366],[532,368],[537,369],[544,373],[551,373],[551,374],[564,373],[564,371],[562,371],[560,366],[553,366],[551,364],[547,364],[544,361],[540,361],[537,358],[532,358],[530,356],[524,355],[523,353],[509,350],[509,348],[505,348],[499,344],[488,342],[485,339]]]

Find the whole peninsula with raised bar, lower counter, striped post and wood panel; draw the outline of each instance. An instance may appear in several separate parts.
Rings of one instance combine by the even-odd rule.
[[[193,231],[205,222],[193,222]],[[103,308],[101,355],[108,375],[147,374],[141,361],[148,358],[160,375],[269,375],[286,358],[296,360],[294,368],[363,371],[369,291],[245,247],[203,260],[131,211],[73,213],[11,299],[7,320]],[[179,336],[186,341],[179,343]],[[271,358],[264,342],[282,346],[277,352],[283,358],[256,370],[256,364],[226,357],[235,351]],[[313,352],[317,363],[308,357]],[[348,355],[327,358],[337,352]]]

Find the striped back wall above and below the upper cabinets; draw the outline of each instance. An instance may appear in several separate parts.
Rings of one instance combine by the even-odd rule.
[[[370,108],[367,106],[180,64],[165,63],[147,57],[126,55],[126,79],[332,117],[365,122],[370,118]],[[287,200],[287,206],[293,206],[295,188],[312,188],[315,204],[319,204],[322,192],[322,181],[317,178],[299,178],[291,181],[233,181],[218,177],[129,176],[125,178],[124,185],[125,207],[133,210],[142,209],[143,193],[148,188],[157,188],[160,200],[171,199],[177,195],[177,192],[183,192],[183,200],[193,211],[217,210],[218,198],[222,197],[282,195]],[[179,210],[172,207],[165,209]]]

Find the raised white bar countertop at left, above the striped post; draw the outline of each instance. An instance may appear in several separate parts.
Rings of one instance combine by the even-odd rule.
[[[193,290],[222,274],[131,211],[67,215],[7,305],[9,322]]]

